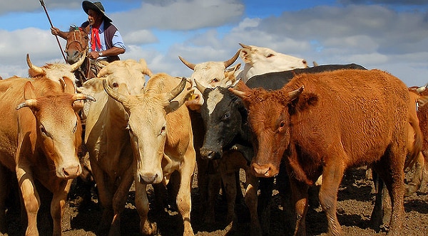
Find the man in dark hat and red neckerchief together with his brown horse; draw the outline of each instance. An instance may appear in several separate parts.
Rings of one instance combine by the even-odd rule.
[[[60,31],[56,27],[51,28],[53,35],[67,40],[67,63],[77,61],[83,53],[91,59],[83,63],[81,70],[76,72],[80,86],[95,77],[105,63],[120,60],[118,55],[126,51],[121,33],[111,23],[112,20],[106,15],[101,2],[83,1],[82,8],[88,14],[88,21],[83,22],[81,27],[71,26],[68,32]]]

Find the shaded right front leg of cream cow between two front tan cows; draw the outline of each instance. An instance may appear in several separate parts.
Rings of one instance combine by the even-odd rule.
[[[129,189],[133,183],[133,171],[129,169],[121,176],[121,183],[113,195],[113,221],[111,222],[108,235],[121,235],[121,213],[125,209],[126,200],[128,198]]]

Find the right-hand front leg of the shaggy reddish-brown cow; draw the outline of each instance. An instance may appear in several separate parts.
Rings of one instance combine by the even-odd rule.
[[[342,156],[339,160],[342,159]],[[328,234],[343,235],[339,220],[337,220],[337,191],[339,191],[345,168],[341,163],[326,163],[322,170],[322,185],[319,198],[322,210],[327,215]]]

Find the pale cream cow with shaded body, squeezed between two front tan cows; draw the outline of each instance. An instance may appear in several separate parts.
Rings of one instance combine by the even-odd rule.
[[[98,77],[83,83],[81,92],[97,102],[85,104],[85,144],[91,169],[103,205],[101,235],[120,235],[121,213],[133,182],[133,151],[128,131],[128,113],[123,105],[107,95],[103,80],[114,90],[138,95],[151,74],[146,61],[117,60],[100,70]]]

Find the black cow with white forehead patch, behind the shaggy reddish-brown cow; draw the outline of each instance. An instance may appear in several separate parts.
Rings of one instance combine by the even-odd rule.
[[[255,75],[248,80],[246,85],[248,87],[277,90],[291,80],[294,75],[340,69],[366,70],[357,64],[319,65],[313,68]],[[250,140],[251,133],[247,124],[247,111],[243,106],[243,102],[233,95],[227,87],[205,88],[198,85],[198,89],[203,93],[204,103],[200,109],[200,115],[205,127],[205,136],[203,146],[200,148],[200,155],[205,159],[214,160],[220,159],[224,151],[240,151],[249,164],[254,152]],[[277,181],[287,182],[285,173],[281,173],[280,176],[283,178],[278,178],[280,180],[277,179]],[[265,217],[269,214],[267,205],[272,195],[273,179],[260,178],[259,181],[260,203],[258,205],[258,215],[263,215],[262,227],[263,231],[266,232],[269,224]],[[281,186],[286,184],[281,184]],[[250,198],[252,197],[250,196]]]

